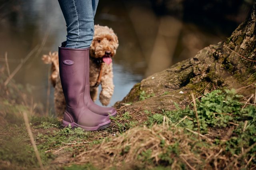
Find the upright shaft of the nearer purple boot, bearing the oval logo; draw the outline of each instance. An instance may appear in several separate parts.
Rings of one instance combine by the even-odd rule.
[[[78,107],[82,105],[86,79],[88,70],[87,53],[89,48],[86,49],[70,49],[66,47],[59,47],[59,67],[60,67],[60,80],[66,104],[68,107]],[[88,59],[86,59],[88,58]]]

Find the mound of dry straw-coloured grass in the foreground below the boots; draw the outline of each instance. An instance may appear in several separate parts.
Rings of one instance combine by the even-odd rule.
[[[194,137],[192,137],[194,136]],[[172,169],[203,169],[220,160],[227,160],[220,155],[222,148],[213,148],[210,143],[201,146],[197,135],[193,135],[182,128],[154,125],[152,128],[136,127],[121,136],[101,144],[85,145],[78,150],[76,157],[70,155],[59,156],[54,162],[68,162],[68,164],[93,164],[100,169],[122,167],[123,164],[134,166],[168,166]],[[153,164],[152,164],[153,163]],[[223,163],[223,162],[222,162]],[[215,163],[214,163],[215,164]],[[141,167],[140,167],[141,168]],[[212,169],[212,168],[211,168]]]

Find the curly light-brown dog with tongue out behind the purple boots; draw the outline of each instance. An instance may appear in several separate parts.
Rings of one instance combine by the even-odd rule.
[[[112,57],[118,48],[118,38],[107,26],[94,26],[94,38],[90,46],[90,95],[96,101],[98,85],[101,84],[100,102],[106,106],[114,92]],[[62,119],[66,102],[59,76],[58,52],[43,55],[46,64],[52,64],[51,81],[54,86],[54,107],[56,115]]]

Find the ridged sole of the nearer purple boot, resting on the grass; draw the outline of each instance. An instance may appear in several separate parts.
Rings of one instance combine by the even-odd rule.
[[[84,129],[86,131],[99,131],[99,130],[103,130],[105,128],[110,127],[110,123],[111,123],[111,121],[107,121],[106,123],[102,123],[102,124],[100,124],[100,125],[98,125],[96,127],[84,127],[84,126],[78,125],[78,124],[76,124],[74,122],[70,123],[70,122],[67,122],[67,121],[63,120],[62,121],[62,126],[63,127],[67,127],[68,125],[71,125],[72,128],[80,127],[80,128],[82,128],[82,129]]]

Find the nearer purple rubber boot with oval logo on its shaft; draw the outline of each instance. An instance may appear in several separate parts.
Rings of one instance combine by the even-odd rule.
[[[110,126],[110,119],[88,109],[84,101],[88,75],[86,49],[59,47],[60,80],[66,100],[62,126],[80,127],[84,130],[102,130]],[[89,94],[90,95],[90,94]],[[90,96],[89,96],[90,97]]]

